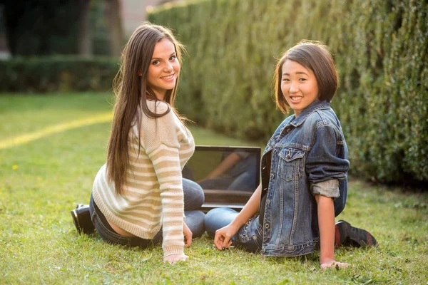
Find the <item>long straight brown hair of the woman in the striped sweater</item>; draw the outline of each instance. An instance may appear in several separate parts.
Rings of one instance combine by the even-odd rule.
[[[181,64],[183,46],[175,39],[173,33],[168,28],[146,22],[136,28],[123,48],[119,71],[113,81],[116,103],[108,140],[107,175],[110,182],[114,182],[116,195],[123,194],[122,187],[129,169],[128,136],[134,119],[136,118],[138,130],[141,130],[141,111],[149,118],[166,115],[171,108],[175,112],[173,106],[178,77],[175,87],[167,90],[163,99],[171,107],[165,113],[158,114],[156,110],[152,112],[146,101],[158,100],[147,84],[147,75],[156,43],[163,38],[174,44],[178,62]]]

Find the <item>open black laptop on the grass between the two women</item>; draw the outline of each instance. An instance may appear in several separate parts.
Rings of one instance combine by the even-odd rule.
[[[260,147],[197,145],[182,174],[203,188],[202,211],[243,209],[260,184],[260,154]]]

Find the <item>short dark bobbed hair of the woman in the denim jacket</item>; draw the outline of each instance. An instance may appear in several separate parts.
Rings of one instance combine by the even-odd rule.
[[[275,99],[282,113],[287,113],[290,107],[281,91],[282,65],[287,59],[310,69],[317,79],[318,98],[328,102],[332,100],[339,87],[339,76],[337,76],[335,61],[324,43],[303,40],[286,51],[275,68]]]

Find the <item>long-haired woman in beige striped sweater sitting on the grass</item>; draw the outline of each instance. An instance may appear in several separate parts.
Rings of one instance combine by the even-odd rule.
[[[181,170],[195,149],[174,108],[183,46],[163,26],[132,34],[114,81],[116,103],[107,162],[83,212],[106,242],[145,248],[163,239],[163,261],[185,261],[183,247],[205,231],[202,188]],[[79,229],[79,228],[78,228]]]

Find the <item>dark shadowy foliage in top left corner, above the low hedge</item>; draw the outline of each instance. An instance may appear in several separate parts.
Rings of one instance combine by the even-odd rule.
[[[9,51],[30,56],[76,53],[76,5],[73,1],[3,0]]]

